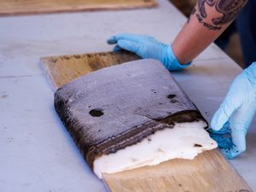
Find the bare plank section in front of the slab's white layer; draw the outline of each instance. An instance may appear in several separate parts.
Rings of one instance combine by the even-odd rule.
[[[105,174],[111,192],[248,192],[253,191],[218,149],[194,160],[168,160],[158,166]]]

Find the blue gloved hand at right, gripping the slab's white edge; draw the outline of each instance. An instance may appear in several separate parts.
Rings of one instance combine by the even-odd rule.
[[[246,150],[246,134],[256,109],[256,62],[239,74],[212,118],[210,134],[227,159]],[[230,134],[230,137],[227,135]]]

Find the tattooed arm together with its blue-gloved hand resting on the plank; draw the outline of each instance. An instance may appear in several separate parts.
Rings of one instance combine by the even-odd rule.
[[[195,56],[224,32],[246,3],[247,0],[197,0],[172,49],[170,44],[131,33],[114,35],[108,39],[108,44],[116,44],[114,50],[126,49],[143,58],[157,59],[171,71],[180,70],[188,67]]]

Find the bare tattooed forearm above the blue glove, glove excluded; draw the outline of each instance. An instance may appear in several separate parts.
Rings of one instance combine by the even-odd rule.
[[[207,48],[235,20],[247,0],[198,0],[172,49],[180,63],[188,63]]]

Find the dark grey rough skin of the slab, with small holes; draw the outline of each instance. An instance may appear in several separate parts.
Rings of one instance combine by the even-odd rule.
[[[62,86],[55,109],[89,165],[174,122],[204,120],[158,61],[103,68]],[[93,168],[93,167],[92,167]]]

